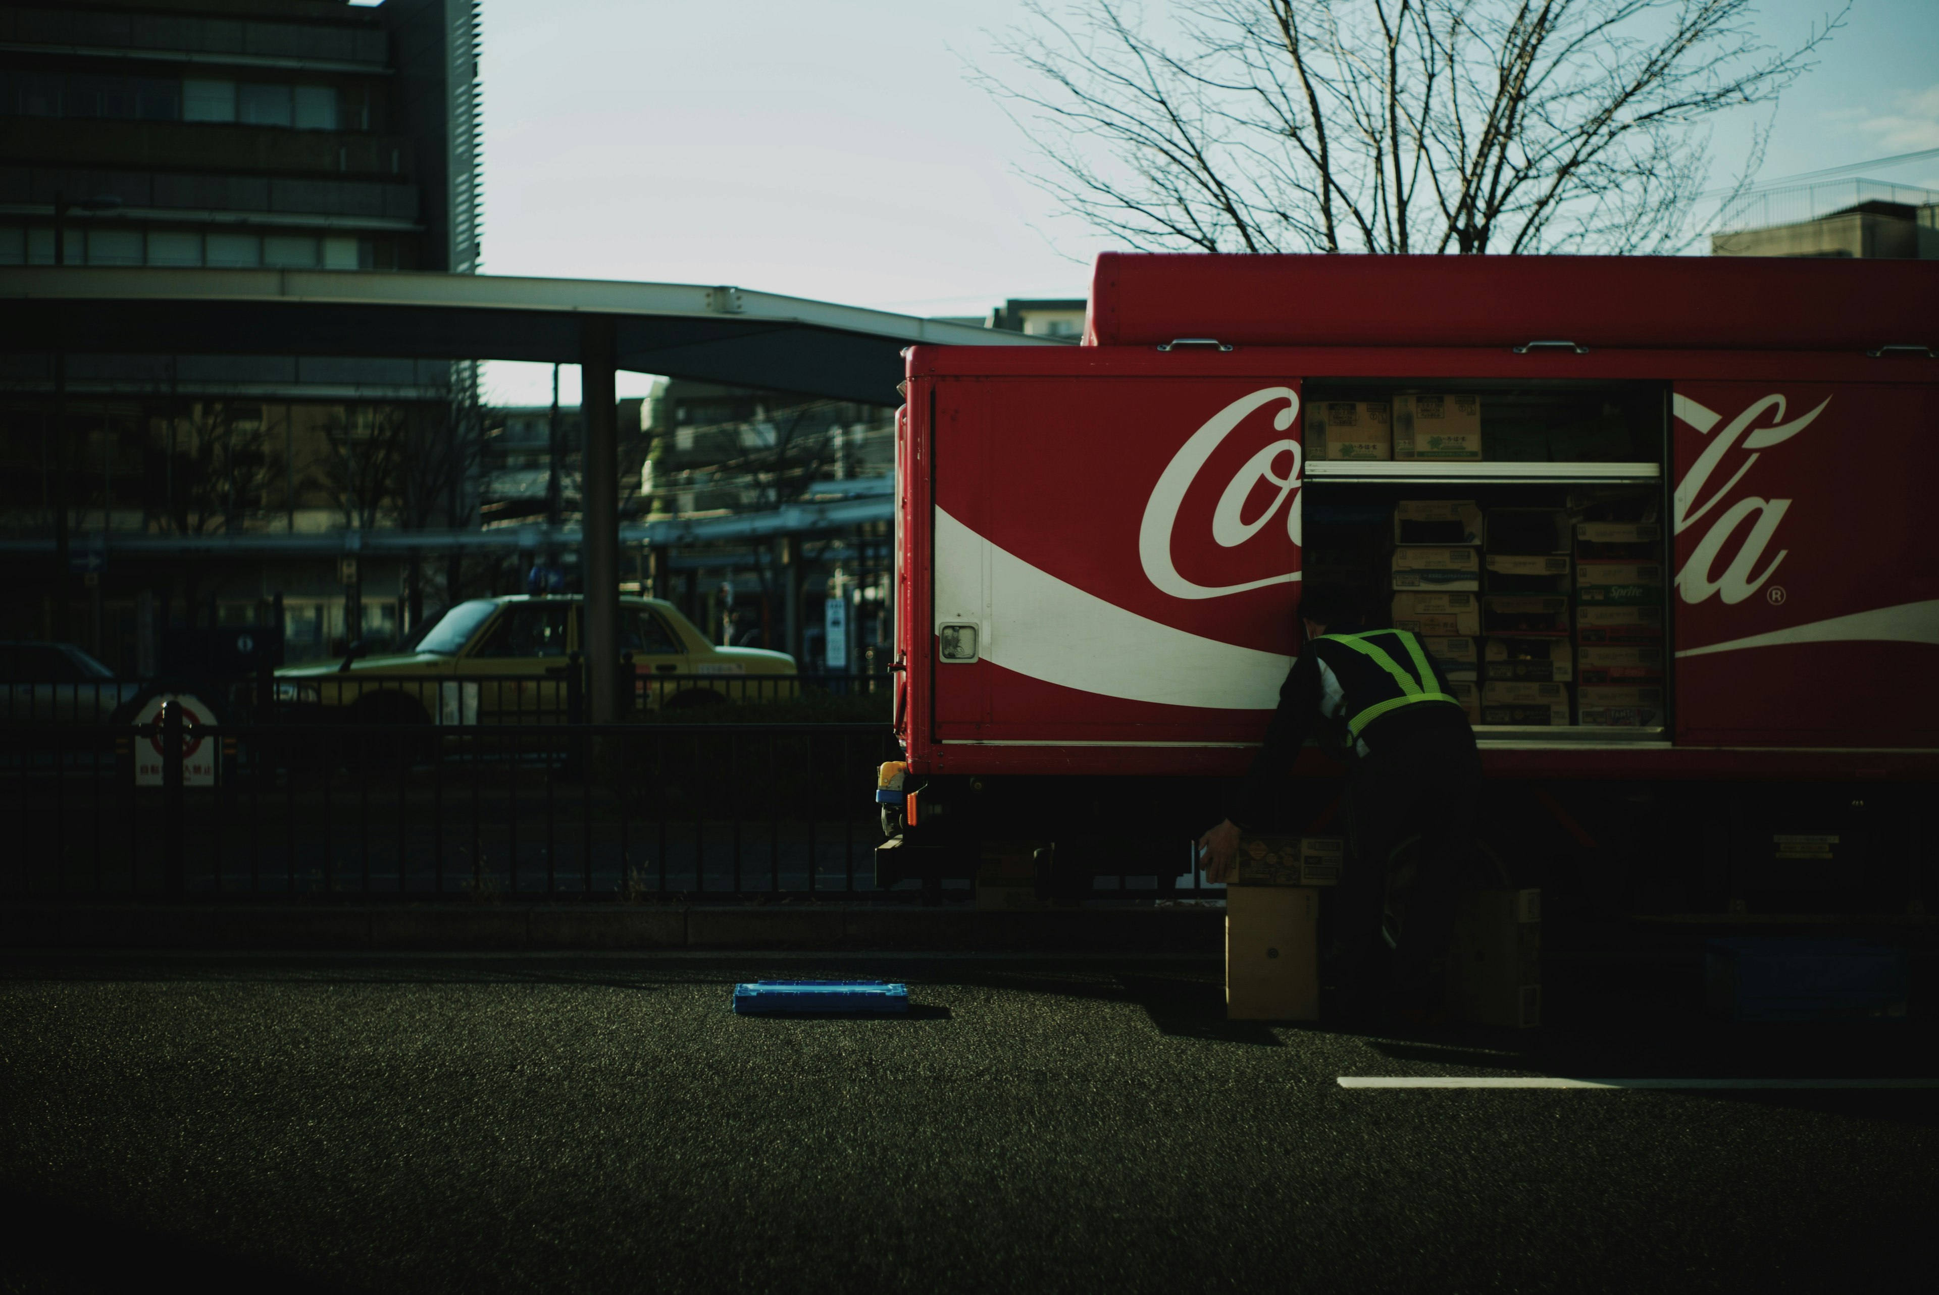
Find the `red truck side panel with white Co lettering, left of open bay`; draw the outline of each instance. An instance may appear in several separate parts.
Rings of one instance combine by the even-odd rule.
[[[1258,741],[1295,651],[1299,384],[1167,361],[917,384],[919,764],[1210,772]]]

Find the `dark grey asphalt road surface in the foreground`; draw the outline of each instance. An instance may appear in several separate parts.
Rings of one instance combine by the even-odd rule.
[[[735,979],[906,979],[756,1020]],[[1768,1291],[1929,1272],[1939,1091],[1338,1076],[1939,1074],[1922,1022],[1227,1024],[1202,962],[0,962],[0,1291]],[[1918,987],[1916,987],[1918,989]]]

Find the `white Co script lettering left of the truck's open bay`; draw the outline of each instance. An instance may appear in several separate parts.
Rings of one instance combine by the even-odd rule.
[[[1185,494],[1192,489],[1192,483],[1198,481],[1198,475],[1204,471],[1218,448],[1227,436],[1231,436],[1233,428],[1237,428],[1247,415],[1264,409],[1274,401],[1286,401],[1286,407],[1272,415],[1272,428],[1278,432],[1289,430],[1293,426],[1293,419],[1299,417],[1299,392],[1287,386],[1268,386],[1253,392],[1251,395],[1241,395],[1206,419],[1204,425],[1192,432],[1183,446],[1179,446],[1179,452],[1171,456],[1171,461],[1165,463],[1165,471],[1160,473],[1158,485],[1152,487],[1152,496],[1144,504],[1144,521],[1138,525],[1138,560],[1144,562],[1144,576],[1163,593],[1183,599],[1208,599],[1299,580],[1299,572],[1284,572],[1278,576],[1264,576],[1260,580],[1247,580],[1243,584],[1202,585],[1181,576],[1171,558],[1173,531],[1179,523],[1179,508],[1185,504]],[[1245,465],[1233,473],[1231,481],[1225,483],[1225,489],[1218,496],[1218,504],[1212,508],[1212,541],[1222,549],[1237,549],[1245,541],[1258,535],[1284,508],[1286,535],[1297,547],[1301,463],[1299,440],[1291,436],[1286,440],[1274,440],[1249,458]],[[1253,500],[1255,492],[1260,490],[1260,487],[1264,487],[1270,494],[1270,502],[1253,518],[1247,518],[1247,504]]]

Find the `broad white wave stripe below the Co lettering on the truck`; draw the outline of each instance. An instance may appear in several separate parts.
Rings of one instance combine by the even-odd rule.
[[[1272,710],[1293,665],[1107,603],[1004,553],[942,508],[935,553],[937,620],[975,620],[983,659],[1018,675],[1130,702]]]

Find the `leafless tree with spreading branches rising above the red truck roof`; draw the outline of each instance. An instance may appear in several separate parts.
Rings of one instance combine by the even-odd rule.
[[[1140,250],[1669,252],[1708,124],[1772,103],[1796,48],[1753,0],[1076,0],[977,79],[1032,178]],[[1753,132],[1737,182],[1763,153]]]

